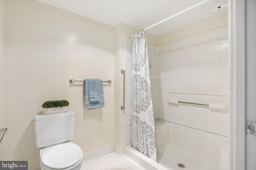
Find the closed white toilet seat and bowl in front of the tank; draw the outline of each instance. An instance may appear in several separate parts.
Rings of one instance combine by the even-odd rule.
[[[74,169],[82,159],[82,149],[71,142],[44,148],[40,156],[40,162],[47,169]]]

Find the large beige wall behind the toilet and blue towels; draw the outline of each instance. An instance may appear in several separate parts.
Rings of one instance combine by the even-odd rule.
[[[40,167],[31,121],[47,100],[70,102],[76,115],[72,142],[84,153],[114,144],[114,83],[104,84],[105,107],[87,110],[82,83],[68,82],[115,82],[114,27],[34,0],[8,0],[5,71],[5,160]]]

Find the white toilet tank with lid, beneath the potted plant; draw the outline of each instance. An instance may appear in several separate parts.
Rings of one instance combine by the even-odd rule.
[[[69,141],[74,135],[74,111],[34,116],[36,148]]]

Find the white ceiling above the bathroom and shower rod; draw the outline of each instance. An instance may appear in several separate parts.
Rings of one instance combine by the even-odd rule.
[[[115,26],[124,23],[137,29],[144,29],[185,10],[203,0],[37,0],[75,14]],[[156,37],[184,27],[190,23],[208,18],[212,10],[228,4],[228,0],[208,2],[180,14],[146,32]],[[227,10],[222,8],[220,12]]]

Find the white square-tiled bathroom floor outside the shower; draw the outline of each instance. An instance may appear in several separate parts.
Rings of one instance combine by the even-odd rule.
[[[83,162],[80,170],[145,170],[125,154],[110,152]]]

